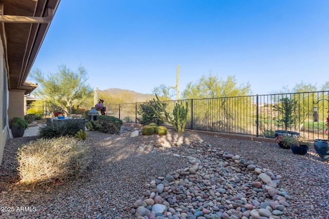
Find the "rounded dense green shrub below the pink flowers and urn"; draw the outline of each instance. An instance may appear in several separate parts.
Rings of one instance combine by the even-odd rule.
[[[99,130],[105,133],[116,134],[122,126],[122,120],[111,115],[99,115],[97,121]]]

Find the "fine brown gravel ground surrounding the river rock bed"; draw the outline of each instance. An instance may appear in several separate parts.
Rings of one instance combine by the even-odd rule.
[[[135,218],[133,204],[143,200],[150,182],[191,167],[186,156],[209,160],[206,146],[281,175],[278,187],[287,191],[290,207],[280,218],[329,218],[329,163],[313,147],[301,156],[275,143],[173,130],[164,137],[130,137],[132,130],[122,128],[117,135],[89,131],[92,163],[83,176],[48,189],[19,184],[17,148],[35,137],[8,140],[0,167],[0,218]]]

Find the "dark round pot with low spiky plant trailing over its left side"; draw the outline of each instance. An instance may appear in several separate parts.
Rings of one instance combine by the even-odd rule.
[[[295,154],[304,155],[312,145],[306,138],[295,135],[279,135],[275,138],[276,143],[290,148]]]

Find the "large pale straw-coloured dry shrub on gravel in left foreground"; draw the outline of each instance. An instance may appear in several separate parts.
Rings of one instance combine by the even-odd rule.
[[[65,182],[89,164],[88,147],[75,137],[39,138],[17,152],[21,183],[35,186]]]

